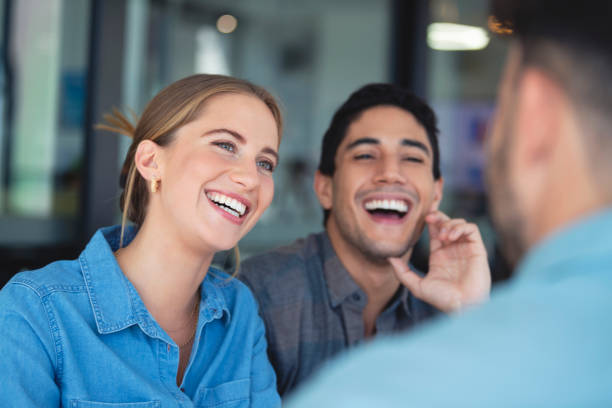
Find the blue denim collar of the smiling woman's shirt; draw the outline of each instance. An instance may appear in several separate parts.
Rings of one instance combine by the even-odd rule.
[[[134,227],[126,228],[126,245],[136,232]],[[148,335],[165,338],[167,335],[154,321],[136,288],[117,263],[114,251],[119,248],[120,233],[120,226],[98,230],[79,257],[98,332],[112,333],[138,324]],[[222,275],[222,272],[210,268],[202,282],[198,326],[224,315],[227,316],[226,322],[230,320],[227,302],[220,289],[226,282]]]

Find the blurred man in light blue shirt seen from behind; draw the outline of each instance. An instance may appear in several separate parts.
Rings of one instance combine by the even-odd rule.
[[[329,367],[289,406],[612,406],[612,2],[506,0],[488,154],[515,279]]]

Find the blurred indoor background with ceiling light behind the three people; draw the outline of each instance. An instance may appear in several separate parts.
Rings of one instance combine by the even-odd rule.
[[[443,210],[479,223],[503,280],[482,174],[507,44],[487,11],[486,0],[0,0],[0,286],[78,256],[119,222],[129,139],[94,130],[102,115],[138,114],[202,72],[263,85],[284,108],[275,199],[243,255],[322,228],[312,178],[323,132],[352,91],[395,82],[436,110]]]

